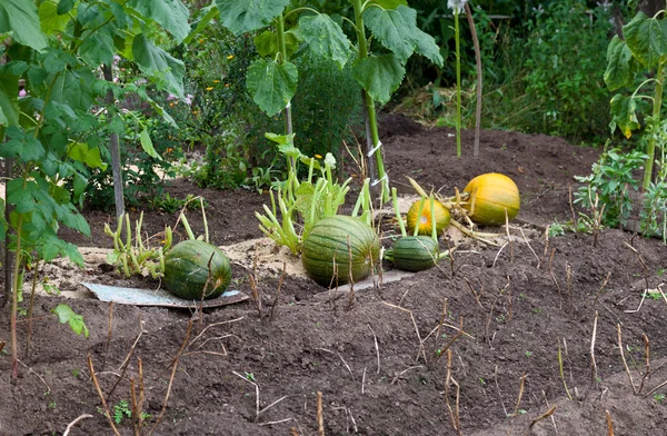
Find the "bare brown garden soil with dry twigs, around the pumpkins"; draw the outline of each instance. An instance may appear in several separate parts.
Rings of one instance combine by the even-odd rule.
[[[359,289],[351,307],[347,296],[334,300],[325,288],[289,275],[272,320],[268,315],[280,268],[263,269],[260,276],[261,318],[251,303],[201,317],[117,305],[110,340],[109,304],[86,295],[76,283],[79,276],[63,262],[70,290],[88,297],[67,303],[83,315],[90,337],[74,336],[50,315],[62,297],[38,296],[31,351],[26,356],[21,349],[24,366],[12,380],[6,307],[0,320],[0,341],[7,343],[0,354],[0,435],[61,435],[83,414],[92,417],[70,435],[112,434],[100,413],[89,356],[110,407],[131,404],[130,380],[137,385],[141,359],[143,409],[150,414],[145,434],[169,394],[155,434],[316,435],[318,393],[327,435],[601,435],[613,434],[608,418],[616,435],[667,434],[667,407],[660,400],[667,389],[650,393],[667,379],[666,301],[658,293],[659,298],[641,304],[646,289],[659,291],[667,248],[614,229],[603,231],[595,247],[587,234],[554,237],[548,244],[544,237],[545,226],[570,219],[573,176],[588,174],[598,150],[546,136],[484,131],[480,157],[471,158],[472,132],[466,131],[465,157],[459,159],[449,129],[424,131],[406,123],[401,130],[399,119],[385,122],[392,127],[382,138],[386,161],[402,194],[411,192],[406,175],[449,195],[474,176],[504,172],[521,191],[517,222],[526,239],[514,230],[512,242],[502,250],[464,241],[451,262],[380,289]],[[207,199],[217,245],[261,237],[253,214],[268,201],[266,194],[200,190],[187,181],[169,190]],[[109,247],[102,230],[111,217],[88,218],[91,238],[67,238],[82,247]],[[158,232],[175,220],[176,215],[147,210],[145,229]],[[196,231],[199,226],[195,222]],[[251,258],[252,246],[246,249]],[[89,281],[127,285],[103,267],[103,258],[96,259],[83,272]],[[232,286],[249,293],[249,264],[235,265]],[[191,319],[189,343],[170,385],[171,363]],[[466,334],[457,336],[459,323]],[[26,325],[19,324],[22,346]],[[639,395],[624,369],[617,325],[633,382],[637,389],[644,383]],[[646,380],[644,335],[650,348]],[[552,415],[540,419],[552,407]],[[132,434],[128,418],[118,428]]]

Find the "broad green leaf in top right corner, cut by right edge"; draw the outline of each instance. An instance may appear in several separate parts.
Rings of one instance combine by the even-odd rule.
[[[647,68],[656,68],[660,57],[667,54],[667,20],[638,12],[623,27],[623,34],[635,58]]]

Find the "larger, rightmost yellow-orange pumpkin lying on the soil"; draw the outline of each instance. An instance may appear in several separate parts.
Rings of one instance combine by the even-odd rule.
[[[506,209],[507,219],[510,221],[519,212],[521,204],[519,188],[505,175],[489,172],[477,176],[470,180],[464,192],[470,195],[469,204],[465,208],[470,212],[468,215],[470,219],[477,224],[504,225]]]

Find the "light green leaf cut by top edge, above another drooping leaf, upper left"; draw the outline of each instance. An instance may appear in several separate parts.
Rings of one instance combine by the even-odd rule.
[[[128,6],[158,22],[177,42],[181,42],[190,33],[190,12],[180,0],[129,0]]]

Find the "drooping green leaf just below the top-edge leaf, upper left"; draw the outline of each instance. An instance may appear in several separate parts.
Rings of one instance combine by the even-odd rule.
[[[183,93],[183,73],[186,71],[183,62],[156,47],[143,33],[135,37],[132,54],[141,71],[146,72],[153,81],[157,81],[179,98],[186,98]]]

